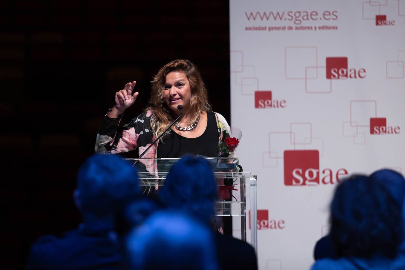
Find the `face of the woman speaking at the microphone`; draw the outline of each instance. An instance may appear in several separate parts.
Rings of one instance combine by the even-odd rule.
[[[187,110],[190,106],[191,89],[187,76],[182,71],[171,71],[166,75],[166,84],[163,90],[164,101],[175,113],[180,114],[177,106]]]

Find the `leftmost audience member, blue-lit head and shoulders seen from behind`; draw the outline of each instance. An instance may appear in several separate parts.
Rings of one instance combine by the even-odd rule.
[[[140,194],[136,168],[117,155],[92,155],[79,169],[74,200],[83,223],[63,237],[32,244],[27,269],[117,269],[122,244],[115,232],[118,209]]]

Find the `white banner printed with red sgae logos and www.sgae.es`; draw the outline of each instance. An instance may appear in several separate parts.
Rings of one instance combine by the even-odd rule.
[[[338,179],[405,169],[405,0],[231,0],[230,50],[259,268],[308,269]]]

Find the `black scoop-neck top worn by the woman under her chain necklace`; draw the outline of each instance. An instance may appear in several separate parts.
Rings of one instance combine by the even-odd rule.
[[[158,144],[158,157],[181,157],[184,154],[217,157],[218,126],[215,113],[207,111],[207,128],[197,138],[185,138],[173,130]]]

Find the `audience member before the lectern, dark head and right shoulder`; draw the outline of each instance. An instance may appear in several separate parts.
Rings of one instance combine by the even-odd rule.
[[[217,202],[217,184],[209,163],[186,156],[171,168],[160,199],[168,208],[181,210],[212,227]],[[252,246],[232,236],[214,233],[220,269],[257,269]]]

